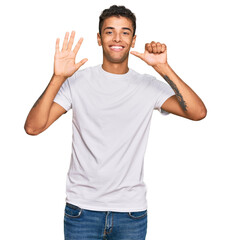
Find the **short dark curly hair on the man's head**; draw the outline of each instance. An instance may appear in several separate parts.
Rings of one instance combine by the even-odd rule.
[[[136,16],[131,10],[128,8],[125,8],[124,6],[117,6],[113,5],[108,9],[103,10],[101,15],[99,16],[99,34],[101,36],[101,29],[104,23],[104,20],[112,17],[112,16],[117,16],[117,17],[126,17],[132,21],[132,26],[133,26],[133,36],[135,35],[136,32]]]

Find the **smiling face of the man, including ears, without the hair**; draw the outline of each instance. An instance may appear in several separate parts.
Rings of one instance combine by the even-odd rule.
[[[104,61],[123,63],[128,60],[131,47],[135,46],[132,21],[126,17],[109,17],[104,20],[101,37],[97,34],[99,46],[103,47]]]

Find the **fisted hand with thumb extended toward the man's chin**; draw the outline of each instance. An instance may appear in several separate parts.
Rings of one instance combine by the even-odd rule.
[[[131,51],[130,53],[139,57],[152,67],[167,63],[167,46],[159,42],[146,43],[144,53],[136,51]]]

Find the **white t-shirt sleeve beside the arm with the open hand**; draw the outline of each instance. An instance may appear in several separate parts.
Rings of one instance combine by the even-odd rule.
[[[66,111],[69,111],[72,108],[69,78],[67,78],[62,84],[53,101],[62,106]]]

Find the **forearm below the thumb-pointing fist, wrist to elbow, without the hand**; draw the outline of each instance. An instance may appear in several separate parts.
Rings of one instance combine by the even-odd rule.
[[[188,116],[196,116],[206,111],[199,96],[166,64],[153,67],[174,90],[182,110]]]

